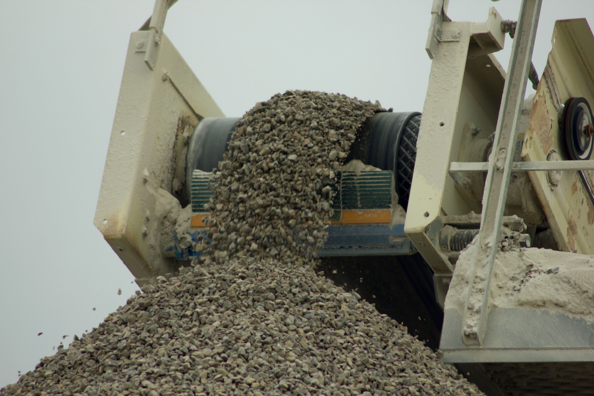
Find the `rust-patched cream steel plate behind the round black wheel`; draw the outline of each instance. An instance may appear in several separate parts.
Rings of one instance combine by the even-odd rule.
[[[563,105],[570,97],[594,103],[594,36],[585,19],[555,23],[552,50],[536,91],[522,149],[524,161],[546,161],[568,154],[561,134]],[[594,179],[594,172],[584,172]],[[576,171],[529,172],[555,240],[562,251],[594,254],[594,205]]]

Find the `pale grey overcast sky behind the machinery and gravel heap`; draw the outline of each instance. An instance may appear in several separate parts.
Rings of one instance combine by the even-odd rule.
[[[421,111],[431,3],[181,0],[165,32],[228,116],[287,89]],[[0,0],[0,387],[137,290],[93,217],[129,34],[153,4]],[[451,0],[448,15],[516,20],[519,4]],[[554,21],[580,17],[594,21],[594,2],[545,0],[539,75]]]

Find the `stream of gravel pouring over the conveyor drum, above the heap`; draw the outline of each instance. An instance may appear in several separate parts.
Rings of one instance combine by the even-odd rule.
[[[216,176],[205,256],[311,261],[325,240],[331,182],[358,128],[379,111],[386,111],[379,103],[309,91],[276,94],[249,110]]]

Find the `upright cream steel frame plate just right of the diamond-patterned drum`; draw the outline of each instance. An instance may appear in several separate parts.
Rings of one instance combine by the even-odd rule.
[[[448,169],[458,159],[466,122],[485,138],[497,126],[505,72],[489,52],[503,48],[501,21],[495,8],[485,23],[443,21],[444,31],[459,30],[459,40],[438,42],[432,51],[405,232],[438,275],[451,274],[453,267],[434,242],[432,224],[438,227],[441,216],[465,215],[479,203],[466,201]]]

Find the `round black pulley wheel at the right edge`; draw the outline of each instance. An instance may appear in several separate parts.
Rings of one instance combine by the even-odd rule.
[[[571,160],[589,160],[594,148],[592,109],[583,97],[571,97],[565,102],[561,118],[561,134],[567,156]]]

